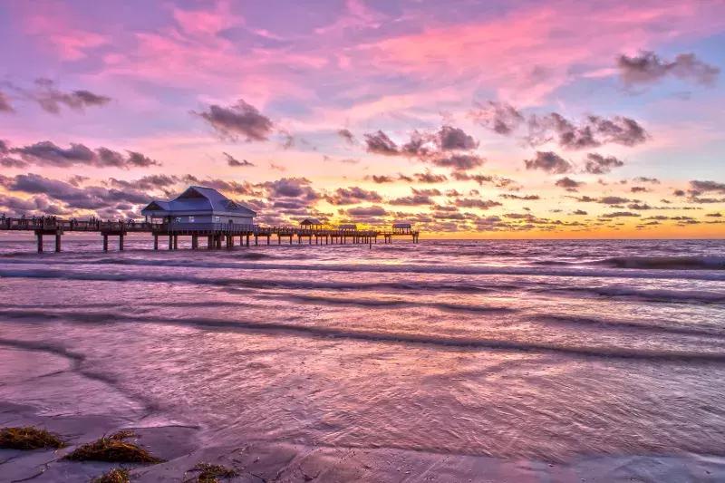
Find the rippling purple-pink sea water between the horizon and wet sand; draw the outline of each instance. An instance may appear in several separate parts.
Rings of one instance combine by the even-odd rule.
[[[723,454],[725,242],[0,243],[0,400],[507,458]]]

